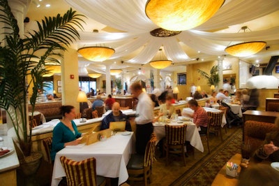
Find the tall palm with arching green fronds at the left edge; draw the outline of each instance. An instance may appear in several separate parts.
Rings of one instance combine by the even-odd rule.
[[[56,57],[63,57],[61,51],[80,38],[77,28],[83,29],[82,17],[72,9],[63,16],[45,17],[42,24],[37,22],[38,31],[20,38],[8,0],[0,0],[0,22],[6,29],[1,33],[4,41],[0,47],[0,107],[6,110],[13,123],[24,156],[31,155],[28,95],[31,94],[33,116],[38,90],[43,89],[43,75],[48,73],[45,66],[59,64]],[[33,87],[33,92],[28,92],[29,87]]]

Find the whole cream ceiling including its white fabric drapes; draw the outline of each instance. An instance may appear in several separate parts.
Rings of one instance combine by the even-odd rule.
[[[105,62],[89,62],[79,56],[80,73],[85,67],[105,73],[105,64],[111,69],[134,71],[149,67],[149,62],[163,48],[173,65],[164,71],[174,71],[179,66],[230,57],[224,51],[227,45],[243,41],[266,41],[262,51],[250,57],[242,57],[251,64],[267,63],[272,55],[279,55],[279,3],[278,0],[227,0],[204,24],[182,31],[181,34],[158,38],[149,33],[157,29],[144,12],[146,0],[33,0],[27,17],[30,22],[25,29],[32,29],[35,20],[44,16],[65,13],[70,7],[86,15],[81,40],[74,48],[89,45],[105,45],[114,48],[115,54]],[[37,7],[40,4],[40,7]],[[46,7],[46,4],[50,4]],[[241,27],[250,31],[243,33]],[[93,33],[98,29],[98,33]]]

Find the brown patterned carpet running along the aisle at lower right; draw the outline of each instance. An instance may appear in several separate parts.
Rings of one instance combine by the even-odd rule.
[[[216,174],[227,160],[234,154],[241,152],[241,142],[242,129],[238,129],[222,145],[212,150],[209,156],[193,165],[171,185],[211,185]]]

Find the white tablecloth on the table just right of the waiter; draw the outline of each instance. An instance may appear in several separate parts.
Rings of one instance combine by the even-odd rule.
[[[167,123],[170,125],[182,125],[183,123],[178,122],[170,122]],[[153,124],[154,132],[157,136],[157,143],[165,137],[165,124],[160,124],[155,122]],[[199,136],[199,131],[197,130],[197,126],[193,122],[187,122],[186,129],[186,141],[190,141],[190,144],[195,147],[197,150],[204,152],[204,146],[202,145],[202,140]]]

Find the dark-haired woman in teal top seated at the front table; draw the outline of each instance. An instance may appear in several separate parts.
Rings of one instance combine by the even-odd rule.
[[[65,148],[67,145],[78,145],[82,134],[77,131],[75,119],[75,108],[73,106],[61,106],[60,112],[63,116],[61,122],[56,124],[53,129],[52,150],[50,156],[52,161],[55,159],[56,152]]]

